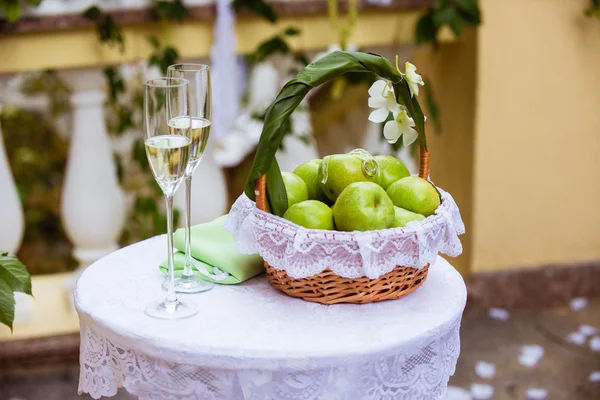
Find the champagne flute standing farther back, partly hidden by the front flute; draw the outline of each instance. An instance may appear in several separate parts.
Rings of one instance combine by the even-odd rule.
[[[175,64],[169,66],[167,75],[172,78],[187,79],[190,82],[190,117],[192,119],[192,147],[190,161],[185,175],[185,263],[181,277],[175,280],[175,291],[179,293],[200,293],[213,288],[211,282],[194,276],[192,269],[191,207],[192,176],[200,164],[208,136],[210,134],[211,86],[210,69],[204,64]],[[184,123],[187,121],[184,121]]]

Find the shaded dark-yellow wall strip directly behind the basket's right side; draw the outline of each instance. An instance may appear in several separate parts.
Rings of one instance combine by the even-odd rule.
[[[460,207],[467,232],[461,236],[463,254],[451,262],[463,275],[468,275],[472,258],[476,51],[476,33],[467,30],[456,42],[441,44],[437,51],[421,47],[413,56],[440,106],[441,132],[427,124],[431,179]]]

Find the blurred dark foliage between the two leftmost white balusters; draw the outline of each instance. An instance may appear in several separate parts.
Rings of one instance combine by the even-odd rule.
[[[70,90],[52,71],[23,77],[21,91],[47,99],[48,111],[5,106],[0,126],[9,163],[25,209],[25,236],[19,257],[30,273],[76,267],[60,220],[60,196],[68,138],[56,120],[70,111]]]

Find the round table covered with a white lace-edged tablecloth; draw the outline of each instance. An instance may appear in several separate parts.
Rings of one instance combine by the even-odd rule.
[[[89,266],[74,299],[81,324],[80,393],[140,399],[425,400],[444,398],[460,349],[461,276],[438,257],[403,299],[321,305],[264,276],[184,295],[200,313],[148,317],[161,299],[166,237]]]

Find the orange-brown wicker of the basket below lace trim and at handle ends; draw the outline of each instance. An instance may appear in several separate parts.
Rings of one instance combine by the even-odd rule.
[[[421,142],[419,176],[429,177],[429,152]],[[266,207],[266,175],[256,181],[256,206],[268,212]],[[292,278],[265,261],[267,277],[273,286],[292,297],[322,304],[372,303],[396,300],[411,293],[425,281],[429,264],[422,269],[397,266],[377,279],[343,278],[329,268],[307,278]]]

